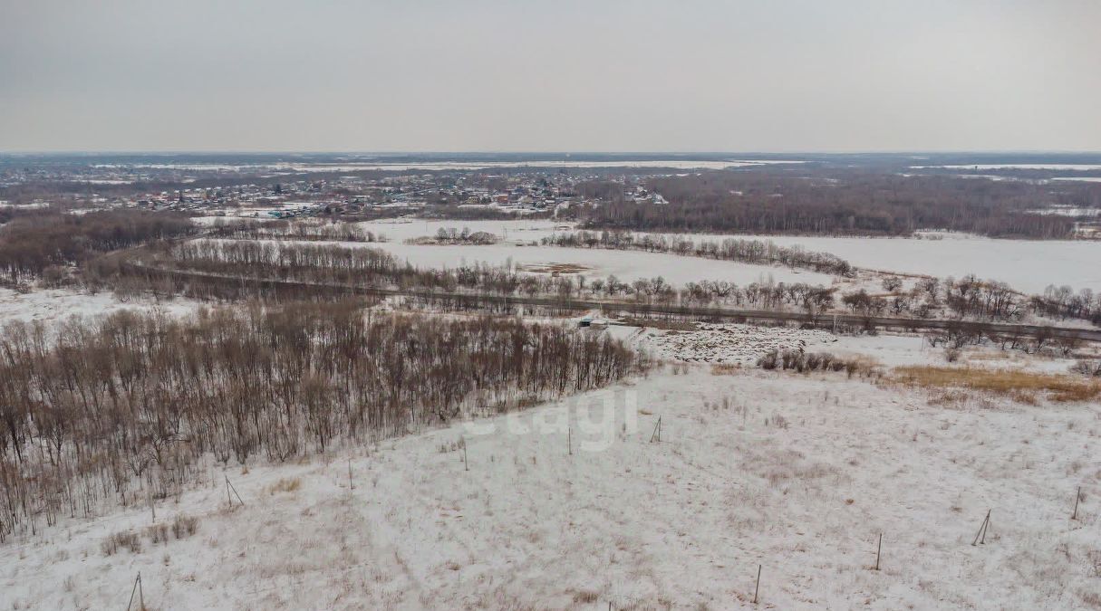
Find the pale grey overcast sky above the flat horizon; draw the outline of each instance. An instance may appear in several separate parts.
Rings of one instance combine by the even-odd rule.
[[[1098,0],[0,0],[0,151],[1101,149]]]

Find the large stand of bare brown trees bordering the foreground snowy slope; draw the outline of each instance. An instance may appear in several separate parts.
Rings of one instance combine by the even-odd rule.
[[[607,334],[355,302],[121,312],[0,333],[0,537],[272,460],[596,388],[645,367]]]

